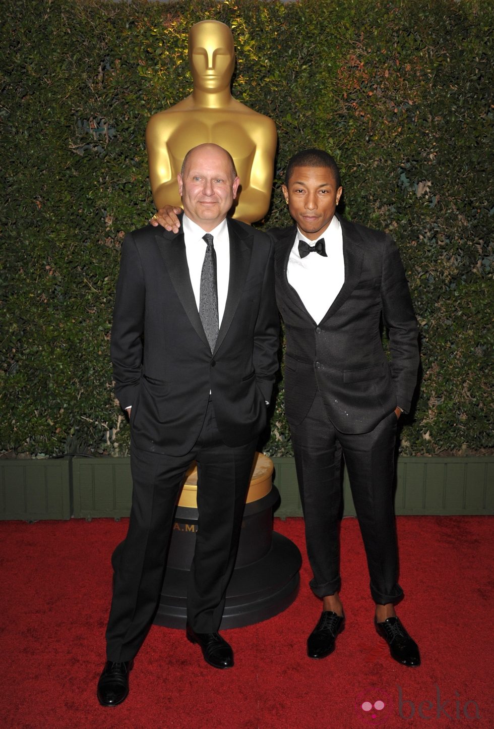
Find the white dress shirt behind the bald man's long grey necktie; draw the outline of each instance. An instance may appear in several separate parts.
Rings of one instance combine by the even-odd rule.
[[[184,214],[182,219],[184,230],[185,252],[187,254],[187,265],[189,266],[190,283],[199,311],[200,295],[200,273],[203,270],[203,262],[206,251],[206,243],[203,241],[203,230]],[[218,285],[218,326],[221,326],[224,307],[227,303],[228,282],[230,281],[230,236],[228,235],[227,219],[210,231],[213,236],[213,246],[216,251],[216,281]]]

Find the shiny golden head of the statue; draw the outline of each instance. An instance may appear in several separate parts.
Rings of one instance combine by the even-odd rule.
[[[189,31],[189,66],[194,89],[210,93],[230,86],[235,68],[232,31],[218,20],[201,20]]]

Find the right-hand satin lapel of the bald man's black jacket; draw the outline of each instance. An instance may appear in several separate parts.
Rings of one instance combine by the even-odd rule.
[[[230,278],[228,281],[227,303],[225,304],[221,326],[219,327],[218,338],[214,348],[215,352],[221,346],[221,342],[230,329],[235,311],[237,311],[238,302],[240,301],[243,287],[246,283],[252,253],[252,235],[245,233],[230,218],[227,219],[227,224],[228,235],[230,237]]]

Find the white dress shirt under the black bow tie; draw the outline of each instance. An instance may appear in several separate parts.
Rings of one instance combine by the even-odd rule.
[[[297,228],[286,270],[290,286],[294,287],[316,324],[324,319],[345,281],[343,235],[337,217],[333,217],[320,238],[324,238],[327,257],[311,252],[301,258],[299,240],[306,241],[311,247],[317,241],[309,241]]]

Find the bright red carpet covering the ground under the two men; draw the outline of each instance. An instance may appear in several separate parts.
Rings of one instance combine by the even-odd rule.
[[[281,615],[224,631],[235,668],[207,666],[183,632],[153,627],[122,706],[96,682],[111,590],[110,555],[127,520],[0,524],[2,728],[353,729],[494,727],[493,520],[400,517],[399,615],[422,652],[395,663],[375,634],[358,525],[342,524],[347,625],[332,656],[305,656],[320,612],[307,582],[301,519],[275,520],[304,557],[297,600]],[[439,695],[439,701],[438,701]],[[360,702],[356,707],[356,700]],[[372,720],[364,699],[386,706]]]

